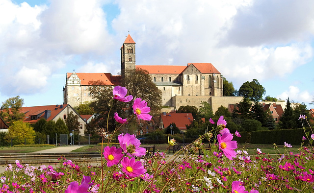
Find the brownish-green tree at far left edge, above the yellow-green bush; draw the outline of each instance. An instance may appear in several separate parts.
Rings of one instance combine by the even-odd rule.
[[[22,121],[25,117],[24,113],[20,113],[20,109],[24,105],[24,99],[20,96],[11,97],[2,102],[0,116],[10,126],[14,121]]]

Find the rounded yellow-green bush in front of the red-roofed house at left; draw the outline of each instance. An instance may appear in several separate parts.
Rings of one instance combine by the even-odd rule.
[[[28,123],[14,121],[8,130],[8,140],[13,139],[14,145],[34,144],[35,131]]]

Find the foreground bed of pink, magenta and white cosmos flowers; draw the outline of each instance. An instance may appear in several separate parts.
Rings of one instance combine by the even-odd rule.
[[[127,89],[117,86],[113,89],[112,104],[129,102]],[[165,152],[145,156],[135,135],[121,133],[119,146],[109,146],[114,134],[120,133],[122,125],[136,117],[151,120],[150,107],[145,100],[133,100],[133,115],[129,119],[114,113],[117,127],[112,133],[102,130],[103,143],[101,166],[88,163],[74,163],[59,157],[53,166],[33,167],[16,160],[0,174],[1,193],[282,193],[314,191],[314,134],[306,133],[299,151],[289,151],[291,145],[285,142],[285,152],[267,155],[257,148],[249,155],[245,149],[238,149],[234,135],[221,116],[193,143],[173,155]],[[110,112],[110,110],[109,110]],[[299,120],[307,121],[301,115]],[[303,122],[302,122],[303,123]],[[309,144],[304,141],[309,140]],[[207,145],[204,145],[206,142]],[[175,145],[168,139],[169,146]],[[274,144],[274,148],[277,146]],[[199,156],[199,150],[204,155]]]

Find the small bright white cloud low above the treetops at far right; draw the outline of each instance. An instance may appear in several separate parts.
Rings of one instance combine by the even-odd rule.
[[[289,86],[288,90],[278,95],[277,98],[287,99],[295,102],[311,102],[313,94],[311,95],[307,90],[300,92],[300,89],[296,86]]]

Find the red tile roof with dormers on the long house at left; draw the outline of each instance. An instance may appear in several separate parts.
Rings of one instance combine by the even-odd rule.
[[[45,110],[50,110],[51,115],[47,121],[53,120],[63,109],[68,105],[47,105],[47,106],[35,106],[35,107],[22,107],[20,112],[25,114],[24,122],[36,123],[41,118],[45,117]],[[37,120],[31,120],[31,116],[38,116]]]

